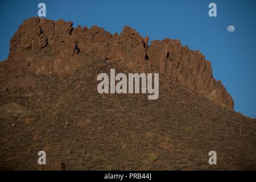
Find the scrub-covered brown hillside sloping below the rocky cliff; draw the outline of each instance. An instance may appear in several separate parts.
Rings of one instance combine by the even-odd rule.
[[[26,73],[34,84],[0,92],[0,169],[256,169],[255,119],[164,76],[158,100],[98,94],[97,75],[110,68],[131,72],[97,61],[72,75]],[[217,165],[208,164],[212,150]]]

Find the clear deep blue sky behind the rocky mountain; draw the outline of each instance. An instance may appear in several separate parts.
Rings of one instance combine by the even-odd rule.
[[[235,110],[256,117],[256,1],[1,1],[0,60],[7,58],[19,24],[37,16],[40,2],[46,3],[46,18],[70,20],[74,27],[97,25],[119,33],[127,25],[150,40],[179,39],[200,50],[232,95]],[[217,17],[208,16],[210,2],[217,4]],[[233,33],[227,31],[230,24]]]

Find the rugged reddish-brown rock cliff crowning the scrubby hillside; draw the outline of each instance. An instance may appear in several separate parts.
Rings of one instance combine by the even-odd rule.
[[[121,34],[104,28],[72,27],[72,22],[30,18],[10,42],[9,81],[24,72],[43,75],[73,73],[86,61],[102,60],[133,72],[159,72],[209,100],[233,109],[232,97],[212,76],[210,62],[179,40],[143,38],[124,27]]]

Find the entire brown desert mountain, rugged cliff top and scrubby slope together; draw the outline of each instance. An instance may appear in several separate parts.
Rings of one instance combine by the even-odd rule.
[[[159,98],[99,94],[111,68],[159,73]],[[256,169],[256,120],[233,111],[210,62],[178,40],[30,18],[0,62],[0,85],[0,169]]]

